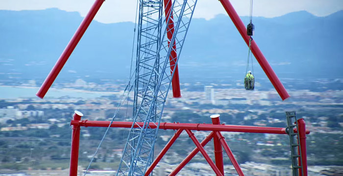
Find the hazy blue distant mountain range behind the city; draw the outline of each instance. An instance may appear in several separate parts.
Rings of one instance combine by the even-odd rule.
[[[82,19],[77,12],[56,8],[0,10],[0,79],[43,81]],[[248,17],[242,20],[248,23]],[[342,22],[343,11],[327,17],[306,11],[276,18],[254,17],[253,38],[281,79],[343,78]],[[130,22],[93,21],[58,79],[127,78],[133,29]],[[193,19],[179,60],[181,81],[241,79],[247,53],[228,16]],[[255,76],[266,78],[256,60],[253,64]]]

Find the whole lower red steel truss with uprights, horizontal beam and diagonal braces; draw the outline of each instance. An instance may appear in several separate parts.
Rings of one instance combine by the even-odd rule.
[[[71,125],[73,126],[73,138],[72,138],[72,151],[71,151],[71,175],[77,175],[77,158],[78,158],[78,149],[79,149],[79,136],[80,136],[80,127],[125,127],[125,128],[141,128],[145,123],[142,122],[109,122],[109,121],[88,121],[82,120],[81,116],[78,115],[81,113],[76,112],[73,116]],[[214,173],[217,176],[224,175],[223,169],[223,159],[222,159],[222,149],[227,153],[232,165],[237,171],[239,176],[244,176],[242,169],[240,168],[238,162],[236,161],[232,151],[230,150],[228,144],[225,141],[225,138],[221,135],[222,131],[231,131],[231,132],[248,132],[248,133],[270,133],[270,134],[288,134],[286,128],[281,127],[268,127],[268,126],[235,126],[235,125],[222,125],[220,123],[219,115],[212,115],[212,124],[179,124],[179,123],[162,123],[160,126],[157,126],[156,123],[150,123],[149,127],[154,129],[172,129],[177,130],[176,133],[172,136],[167,145],[162,149],[158,154],[156,159],[153,161],[151,166],[141,174],[141,176],[148,176],[151,174],[152,170],[156,167],[158,162],[163,158],[166,152],[171,148],[172,144],[176,141],[182,131],[186,131],[189,137],[192,139],[196,148],[188,154],[188,156],[172,171],[170,176],[177,175],[181,169],[200,151],[204,156],[208,164],[213,169]],[[293,129],[294,132],[298,132],[301,136],[299,141],[304,151],[306,151],[306,134],[309,134],[310,131],[306,129],[305,121],[303,119],[297,120],[299,124],[298,129]],[[211,133],[203,139],[202,142],[199,142],[191,130],[196,131],[211,131]],[[207,152],[204,150],[204,146],[213,139],[214,141],[214,151],[215,151],[215,163],[211,160]],[[307,155],[306,152],[302,152],[301,165],[304,167],[304,174],[302,176],[307,176]],[[72,172],[73,171],[73,172]]]

